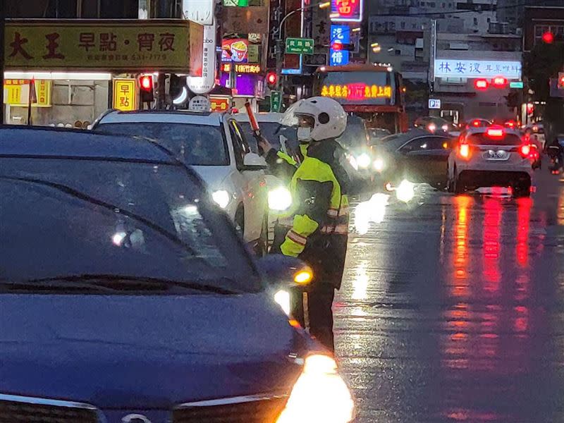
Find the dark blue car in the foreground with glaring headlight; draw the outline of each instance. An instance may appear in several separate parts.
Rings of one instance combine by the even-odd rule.
[[[147,140],[0,128],[2,423],[353,419],[207,197]]]

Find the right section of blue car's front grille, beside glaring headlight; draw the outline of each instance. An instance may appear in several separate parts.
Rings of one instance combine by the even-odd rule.
[[[272,396],[185,404],[173,411],[173,423],[275,423],[286,400]]]

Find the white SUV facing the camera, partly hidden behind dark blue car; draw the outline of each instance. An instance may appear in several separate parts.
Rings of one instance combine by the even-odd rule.
[[[108,111],[92,130],[147,137],[194,168],[243,239],[264,253],[268,241],[266,161],[251,152],[231,114]]]

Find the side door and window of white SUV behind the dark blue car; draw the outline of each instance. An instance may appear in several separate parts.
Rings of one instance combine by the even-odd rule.
[[[262,231],[262,222],[266,214],[267,193],[264,170],[246,170],[245,156],[252,152],[240,125],[231,119],[228,123],[231,138],[233,139],[233,151],[235,152],[235,163],[243,180],[241,194],[243,196],[243,207],[245,207],[245,240],[257,240]]]

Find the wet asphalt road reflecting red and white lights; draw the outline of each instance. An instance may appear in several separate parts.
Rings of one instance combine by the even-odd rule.
[[[333,312],[357,422],[564,422],[564,180],[534,183],[353,212]]]

